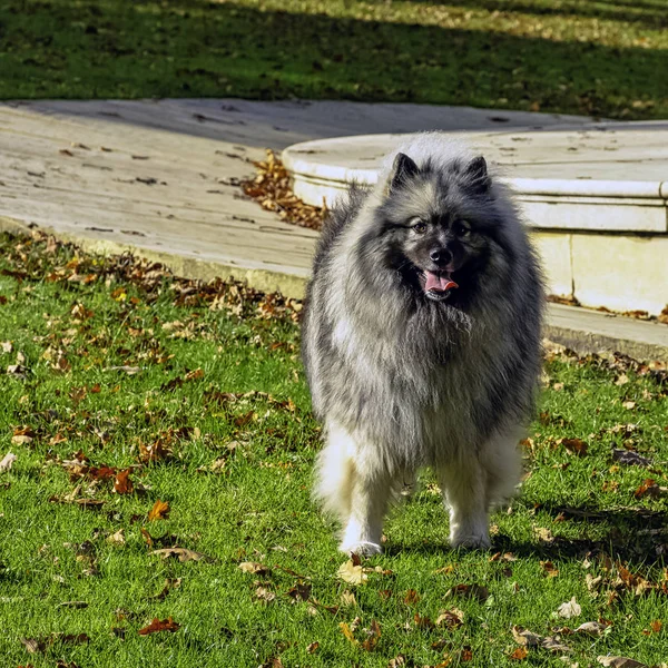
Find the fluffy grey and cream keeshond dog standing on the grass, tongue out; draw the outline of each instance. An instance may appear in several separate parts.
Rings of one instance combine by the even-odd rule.
[[[340,549],[382,551],[397,491],[433,468],[452,547],[489,548],[514,491],[541,364],[543,287],[509,190],[439,134],[389,156],[323,229],[303,361],[325,446],[315,495]]]

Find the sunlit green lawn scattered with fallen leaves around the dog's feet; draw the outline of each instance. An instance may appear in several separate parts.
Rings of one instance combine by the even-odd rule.
[[[354,587],[337,579],[345,557],[310,502],[318,428],[298,363],[298,304],[178,281],[128,257],[102,261],[40,235],[0,237],[0,341],[11,342],[1,354],[0,458],[18,455],[0,473],[3,666],[385,667],[399,655],[404,666],[445,666],[446,657],[514,666],[513,625],[548,636],[593,620],[611,625],[600,638],[563,635],[571,662],[593,666],[608,652],[665,660],[666,630],[650,625],[668,622],[666,502],[660,490],[635,498],[648,478],[667,484],[665,374],[553,355],[525,445],[530,475],[512,511],[492,518],[492,552],[449,550],[425,477],[389,521],[386,554],[364,563],[391,572]],[[563,438],[582,439],[587,453],[569,454]],[[141,448],[156,443],[171,455],[143,464]],[[613,462],[613,443],[654,464]],[[63,461],[81,452],[90,465],[132,466],[135,491],[72,479]],[[216,460],[218,471],[199,470]],[[56,502],[68,494],[104,504]],[[157,500],[169,503],[168,519],[148,521]],[[120,529],[125,543],[114,544]],[[164,561],[143,529],[154,549],[179,546],[212,561]],[[244,572],[244,561],[266,571]],[[637,596],[622,567],[651,587]],[[593,592],[587,576],[602,578]],[[490,597],[448,596],[461,583]],[[298,584],[308,600],[288,593]],[[275,598],[258,600],[258,587]],[[342,601],[346,591],[354,602]],[[581,615],[553,617],[572,597]],[[86,607],[62,606],[71,601]],[[464,613],[459,628],[419,623],[453,607]],[[156,617],[180,628],[140,636]],[[340,625],[355,618],[360,644],[380,625],[372,650],[345,638]],[[67,638],[80,633],[87,642]],[[43,641],[43,651],[29,654],[21,638]],[[564,666],[536,648],[524,665]]]

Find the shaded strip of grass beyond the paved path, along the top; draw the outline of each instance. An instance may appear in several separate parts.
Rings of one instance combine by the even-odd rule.
[[[0,99],[245,97],[668,117],[665,0],[6,0]]]

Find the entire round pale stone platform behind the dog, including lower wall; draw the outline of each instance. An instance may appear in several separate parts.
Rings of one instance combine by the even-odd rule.
[[[668,124],[453,136],[494,163],[514,190],[550,292],[613,311],[664,310]],[[384,156],[405,138],[306,141],[282,158],[298,197],[331,205],[352,181],[375,184]]]

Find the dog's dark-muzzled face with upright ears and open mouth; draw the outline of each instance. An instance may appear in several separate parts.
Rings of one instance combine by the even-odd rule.
[[[379,208],[386,262],[432,301],[462,303],[491,245],[490,177],[484,158],[446,171],[399,154]]]

